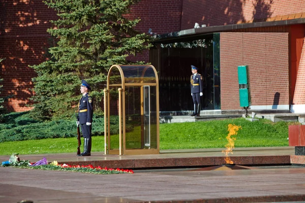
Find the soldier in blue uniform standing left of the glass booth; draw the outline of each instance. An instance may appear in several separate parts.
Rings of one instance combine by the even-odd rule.
[[[84,152],[77,156],[91,156],[91,128],[92,128],[92,116],[93,116],[93,100],[89,96],[88,91],[91,90],[89,84],[85,81],[81,81],[80,92],[82,97],[78,103],[78,118],[77,125],[80,125],[81,132],[84,137]]]

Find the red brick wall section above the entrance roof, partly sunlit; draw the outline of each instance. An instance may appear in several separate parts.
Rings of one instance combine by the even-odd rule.
[[[181,29],[194,28],[196,22],[216,26],[301,12],[305,12],[305,2],[300,0],[185,0]]]

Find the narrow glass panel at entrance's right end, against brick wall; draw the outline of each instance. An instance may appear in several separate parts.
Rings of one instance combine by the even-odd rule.
[[[220,33],[214,34],[214,109],[221,109],[220,105]]]

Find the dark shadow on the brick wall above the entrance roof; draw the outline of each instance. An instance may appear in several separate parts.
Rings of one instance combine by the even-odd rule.
[[[206,26],[216,25],[230,25],[237,23],[246,23],[250,20],[249,14],[245,12],[245,8],[249,8],[251,4],[247,0],[217,0],[213,1],[184,1],[182,7],[181,29],[194,28],[195,22],[199,25],[206,24]],[[262,21],[272,15],[271,5],[273,0],[255,0],[252,2],[252,19],[255,21]],[[204,14],[196,14],[196,13]],[[247,11],[246,11],[247,12]],[[250,14],[251,15],[251,14]],[[247,18],[247,20],[246,20]],[[260,20],[258,20],[260,19]]]

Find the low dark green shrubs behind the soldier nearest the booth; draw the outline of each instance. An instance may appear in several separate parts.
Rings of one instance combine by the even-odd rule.
[[[76,119],[44,121],[29,117],[29,112],[10,113],[0,124],[0,143],[8,141],[39,140],[46,138],[70,138],[77,136]],[[104,118],[94,115],[92,136],[104,135]],[[110,134],[118,134],[118,116],[110,118]],[[126,131],[132,126],[126,126]]]

